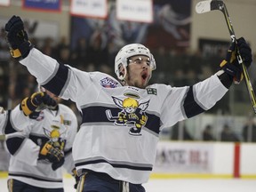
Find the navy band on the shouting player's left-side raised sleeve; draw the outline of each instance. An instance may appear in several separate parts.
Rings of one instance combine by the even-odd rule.
[[[55,95],[60,95],[63,87],[68,80],[68,67],[64,65],[59,65],[58,71],[52,79],[46,84],[42,84],[46,90],[54,93]]]

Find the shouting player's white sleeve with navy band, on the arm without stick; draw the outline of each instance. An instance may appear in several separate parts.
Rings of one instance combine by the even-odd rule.
[[[76,101],[79,90],[86,92],[91,83],[90,73],[62,65],[36,48],[20,63],[28,68],[32,76],[36,76],[38,84],[64,100]]]

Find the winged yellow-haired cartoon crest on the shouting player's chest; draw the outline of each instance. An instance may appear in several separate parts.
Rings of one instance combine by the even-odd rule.
[[[118,108],[122,110],[118,112],[117,116],[112,116],[110,109],[106,110],[106,115],[109,121],[114,121],[117,126],[129,126],[130,134],[140,136],[141,129],[147,123],[148,116],[145,111],[148,108],[148,101],[139,103],[132,97],[127,97],[124,100],[113,97],[112,99]]]

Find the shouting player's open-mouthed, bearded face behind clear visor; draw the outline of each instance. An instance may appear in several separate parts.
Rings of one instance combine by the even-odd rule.
[[[128,85],[145,88],[151,76],[150,60],[147,56],[133,56],[129,60],[125,81]]]

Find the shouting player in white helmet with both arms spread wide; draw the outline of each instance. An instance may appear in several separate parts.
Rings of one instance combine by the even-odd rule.
[[[20,17],[12,16],[5,30],[12,57],[47,90],[75,101],[83,116],[73,145],[80,176],[77,191],[145,191],[142,184],[153,169],[159,132],[212,108],[234,78],[241,80],[242,69],[233,57],[236,43],[216,74],[177,88],[148,85],[156,62],[142,44],[128,44],[117,53],[117,81],[104,73],[60,65],[44,55],[28,41]],[[251,48],[244,38],[238,39],[237,46],[249,67]]]

